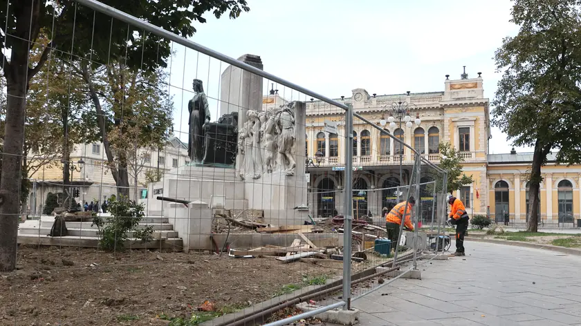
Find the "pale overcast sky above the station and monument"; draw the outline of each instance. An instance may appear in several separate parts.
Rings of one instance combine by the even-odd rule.
[[[503,37],[517,33],[509,0],[248,0],[248,6],[250,12],[234,20],[206,15],[192,40],[234,58],[259,55],[268,73],[332,98],[349,97],[354,88],[370,94],[441,91],[444,76],[459,79],[466,66],[469,77],[482,73],[492,101],[500,78],[492,57]],[[192,50],[184,54],[180,46],[174,50],[172,85],[190,90],[191,77],[201,77],[215,113],[217,81],[227,65]],[[172,93],[176,106],[192,97]],[[187,114],[187,108],[179,111]],[[187,115],[176,120],[176,133],[187,132]],[[493,128],[490,152],[510,147]]]

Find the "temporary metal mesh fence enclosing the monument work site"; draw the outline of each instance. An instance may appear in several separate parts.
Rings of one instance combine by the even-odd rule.
[[[96,1],[55,3],[50,19],[35,42],[5,36],[38,67],[19,98],[24,150],[3,148],[3,169],[25,176],[8,198],[20,209],[2,211],[19,220],[6,325],[282,325],[308,317],[296,303],[347,309],[449,245],[443,171],[407,145],[396,186],[394,164],[358,169],[382,155],[353,148],[369,122],[346,102]],[[386,228],[394,207],[410,218]]]

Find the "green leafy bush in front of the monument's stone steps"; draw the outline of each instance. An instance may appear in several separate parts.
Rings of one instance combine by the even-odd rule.
[[[148,225],[137,229],[140,220],[145,215],[143,205],[130,200],[117,200],[109,198],[109,209],[112,216],[103,220],[97,214],[93,214],[93,224],[99,229],[101,249],[105,251],[120,251],[124,249],[124,242],[129,240],[127,232],[133,231],[133,238],[141,242],[153,240],[153,227]]]

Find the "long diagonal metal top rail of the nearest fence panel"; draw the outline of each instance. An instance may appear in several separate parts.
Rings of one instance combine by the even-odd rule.
[[[264,70],[260,70],[258,68],[253,67],[253,66],[245,64],[242,61],[228,57],[227,55],[223,55],[220,52],[216,52],[210,48],[206,48],[205,46],[197,44],[194,41],[190,41],[189,39],[186,39],[185,37],[181,37],[181,36],[174,34],[172,32],[168,32],[167,30],[164,30],[163,28],[155,26],[152,23],[148,23],[145,20],[138,19],[138,18],[133,17],[131,15],[127,15],[125,12],[122,12],[121,10],[117,10],[111,6],[107,6],[103,3],[100,3],[99,1],[96,1],[96,0],[75,0],[75,1],[77,1],[78,3],[81,3],[83,6],[87,6],[91,9],[96,10],[98,12],[101,12],[105,15],[109,15],[113,18],[119,19],[120,21],[124,21],[125,23],[130,23],[133,26],[141,28],[142,30],[147,30],[147,32],[151,32],[154,35],[158,35],[159,37],[164,37],[166,39],[169,39],[170,41],[176,42],[177,44],[181,44],[187,48],[191,48],[192,50],[196,50],[196,51],[201,52],[205,55],[209,55],[210,57],[214,57],[216,59],[224,61],[228,64],[231,64],[232,66],[241,68],[243,70],[246,70],[246,71],[253,73],[255,75],[258,75],[260,77],[264,77],[270,81],[275,81],[278,84],[293,88],[295,90],[298,90],[301,93],[304,93],[306,95],[310,95],[311,97],[316,97],[317,99],[320,99],[323,102],[329,103],[329,104],[334,105],[334,106],[338,106],[339,108],[342,108],[343,110],[347,110],[347,106],[345,104],[334,101],[333,99],[330,99],[328,97],[324,97],[323,95],[315,93],[312,90],[308,90],[308,89],[306,89],[302,86],[299,86],[297,84],[293,84],[293,83],[291,83],[291,81],[286,81],[285,79],[279,78],[275,75],[271,75],[270,73],[266,73],[266,71],[264,71]]]

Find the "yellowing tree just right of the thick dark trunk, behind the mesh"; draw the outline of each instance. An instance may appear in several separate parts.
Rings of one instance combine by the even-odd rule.
[[[30,61],[39,61],[43,44],[48,39],[41,33]],[[73,199],[68,186],[74,166],[71,151],[74,144],[100,139],[96,116],[87,105],[84,81],[62,59],[51,57],[29,85],[24,170],[32,175],[47,164],[62,168],[63,193],[68,198],[62,204],[69,207]]]

